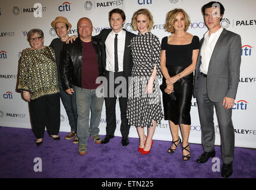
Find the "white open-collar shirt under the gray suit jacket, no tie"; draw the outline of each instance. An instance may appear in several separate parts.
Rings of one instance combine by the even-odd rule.
[[[217,40],[220,37],[220,34],[223,31],[223,27],[220,27],[219,30],[216,31],[216,33],[211,34],[209,37],[209,31],[204,34],[204,42],[201,47],[201,66],[200,66],[200,72],[203,72],[204,74],[207,74],[208,72],[208,66],[211,59],[211,55],[213,54],[214,47],[217,43]]]

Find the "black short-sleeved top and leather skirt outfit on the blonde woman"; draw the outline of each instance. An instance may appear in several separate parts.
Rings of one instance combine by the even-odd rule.
[[[192,52],[200,48],[198,36],[193,36],[192,42],[188,45],[169,45],[167,36],[163,37],[161,49],[166,50],[166,68],[170,77],[182,72],[192,63]],[[163,96],[163,110],[165,120],[172,121],[175,125],[191,125],[190,109],[193,89],[193,72],[173,84],[176,101],[169,103],[166,96]],[[163,84],[166,84],[163,77]]]

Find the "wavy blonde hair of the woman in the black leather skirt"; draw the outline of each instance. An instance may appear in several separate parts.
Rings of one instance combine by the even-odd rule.
[[[184,9],[181,8],[175,8],[172,9],[172,11],[167,12],[166,14],[166,20],[165,20],[165,29],[167,32],[175,33],[175,29],[173,28],[173,24],[175,22],[175,17],[179,14],[179,12],[182,12],[185,18],[185,31],[188,30],[190,19],[187,14],[187,12],[184,11]]]

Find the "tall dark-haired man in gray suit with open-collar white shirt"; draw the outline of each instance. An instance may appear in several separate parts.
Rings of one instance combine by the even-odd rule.
[[[220,2],[212,1],[202,7],[208,31],[200,42],[193,95],[197,98],[204,148],[197,163],[206,163],[210,157],[215,156],[215,106],[222,145],[222,177],[228,178],[233,173],[235,132],[232,107],[239,83],[242,45],[238,34],[220,26],[224,11]]]

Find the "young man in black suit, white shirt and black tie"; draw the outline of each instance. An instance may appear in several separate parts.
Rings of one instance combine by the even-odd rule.
[[[109,12],[109,24],[112,29],[103,29],[96,37],[102,40],[103,67],[105,68],[105,77],[108,80],[108,96],[105,97],[106,137],[102,140],[102,144],[109,143],[110,138],[114,137],[116,129],[116,99],[118,96],[121,111],[122,145],[127,146],[129,144],[130,128],[127,119],[127,96],[128,77],[131,76],[132,69],[131,39],[136,35],[122,29],[124,23],[124,11],[119,8],[112,9]],[[114,81],[118,77],[124,77],[126,83],[115,84]],[[122,87],[121,90],[115,93],[115,91],[118,91],[116,87],[119,89],[120,85]]]

